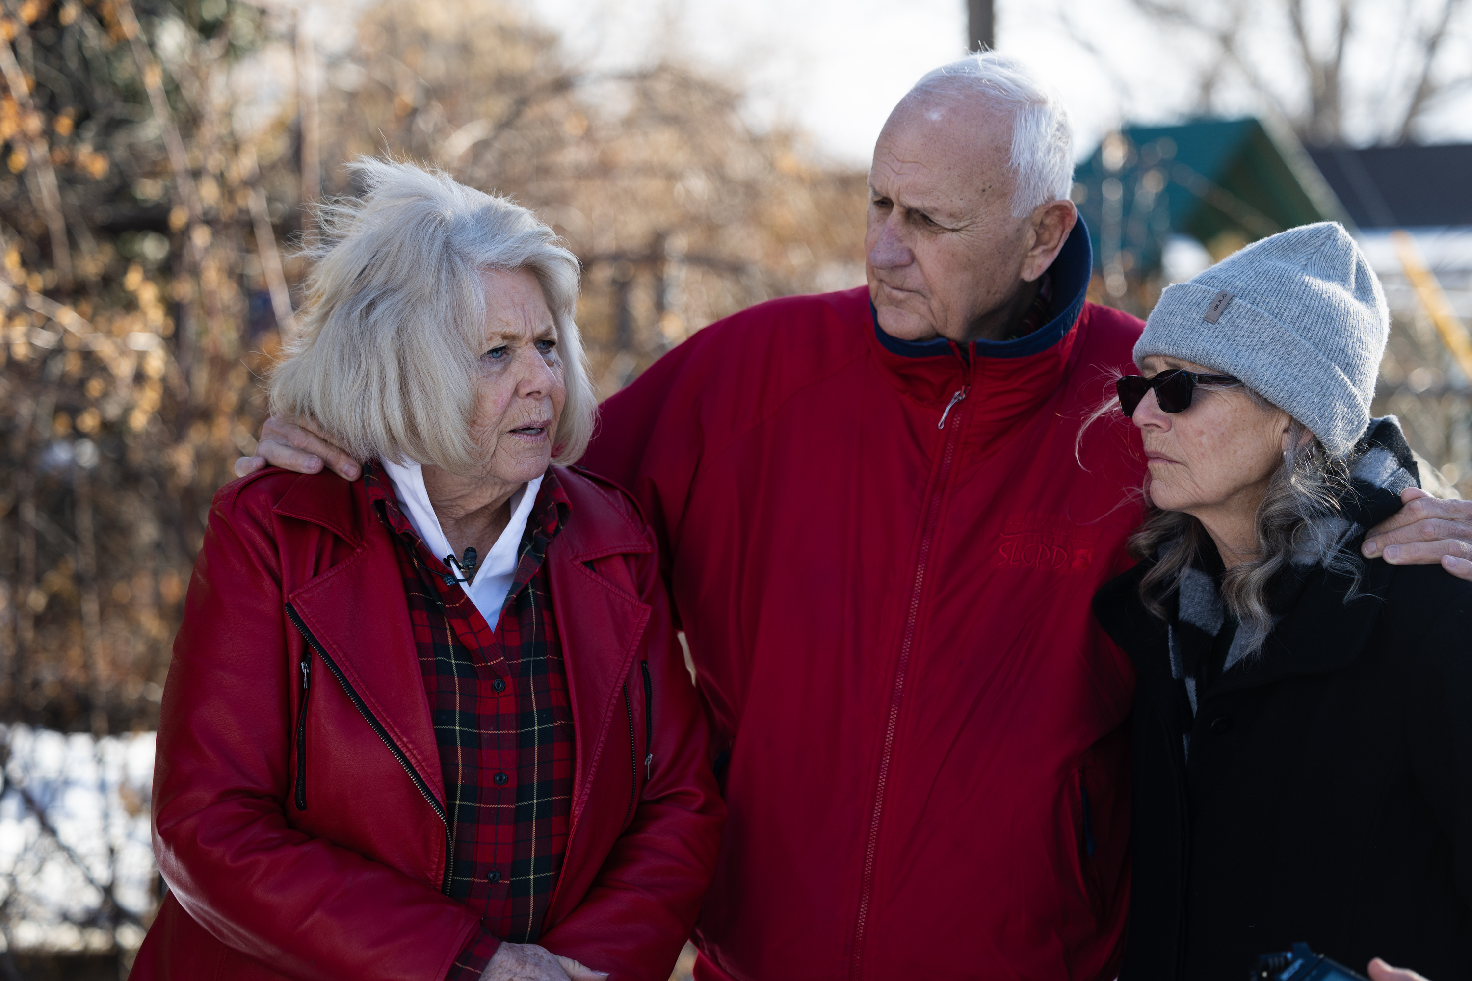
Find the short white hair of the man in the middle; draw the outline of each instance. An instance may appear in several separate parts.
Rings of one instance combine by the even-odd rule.
[[[982,96],[1011,113],[1010,163],[1017,179],[1013,216],[1025,218],[1039,204],[1069,197],[1073,190],[1073,124],[1058,93],[1022,62],[997,51],[976,51],[927,72],[910,94],[954,96],[957,90]]]

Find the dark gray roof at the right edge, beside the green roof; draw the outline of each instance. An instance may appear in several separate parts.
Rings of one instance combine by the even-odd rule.
[[[1472,144],[1309,150],[1360,228],[1472,225]]]

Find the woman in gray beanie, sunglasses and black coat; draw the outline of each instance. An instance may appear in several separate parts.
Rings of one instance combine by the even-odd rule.
[[[1359,550],[1419,482],[1369,416],[1388,319],[1342,228],[1295,228],[1167,288],[1117,382],[1150,466],[1094,602],[1138,672],[1123,981],[1297,941],[1472,978],[1472,582]]]

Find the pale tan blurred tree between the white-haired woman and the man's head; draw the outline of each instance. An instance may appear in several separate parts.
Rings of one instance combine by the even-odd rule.
[[[671,62],[584,71],[524,15],[470,0],[371,9],[324,78],[324,159],[434,163],[568,240],[604,394],[718,316],[863,281],[863,174],[754,131],[729,82]]]

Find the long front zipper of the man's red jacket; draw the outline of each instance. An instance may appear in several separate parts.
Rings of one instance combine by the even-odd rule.
[[[941,413],[941,422],[936,427],[938,429],[945,428],[945,421],[946,416],[951,415],[951,409],[966,402],[966,396],[972,390],[972,366],[974,362],[972,357],[963,356],[960,347],[954,343],[951,347],[955,350],[957,356],[961,357],[961,387],[954,396],[951,396],[951,403],[945,407],[945,412]],[[874,810],[868,819],[868,841],[864,847],[864,871],[858,890],[858,916],[854,922],[854,946],[852,957],[849,960],[849,978],[854,978],[855,981],[861,978],[864,972],[864,930],[868,925],[868,909],[874,893],[874,863],[879,853],[879,825],[885,813],[885,788],[889,784],[889,765],[895,750],[895,731],[899,728],[899,706],[904,697],[905,675],[910,669],[910,653],[914,646],[916,628],[920,618],[920,597],[924,591],[924,574],[926,566],[930,562],[930,546],[935,540],[935,529],[941,519],[941,502],[945,497],[946,481],[951,477],[951,463],[955,459],[955,443],[960,431],[960,413],[957,413],[957,425],[951,427],[951,431],[945,435],[945,447],[941,452],[941,469],[936,474],[935,491],[930,494],[930,500],[926,502],[924,528],[920,534],[920,557],[916,562],[914,585],[910,590],[910,609],[905,612],[905,629],[899,640],[899,663],[895,666],[895,682],[889,699],[889,718],[885,724],[885,747],[879,757],[879,780],[874,784]]]

